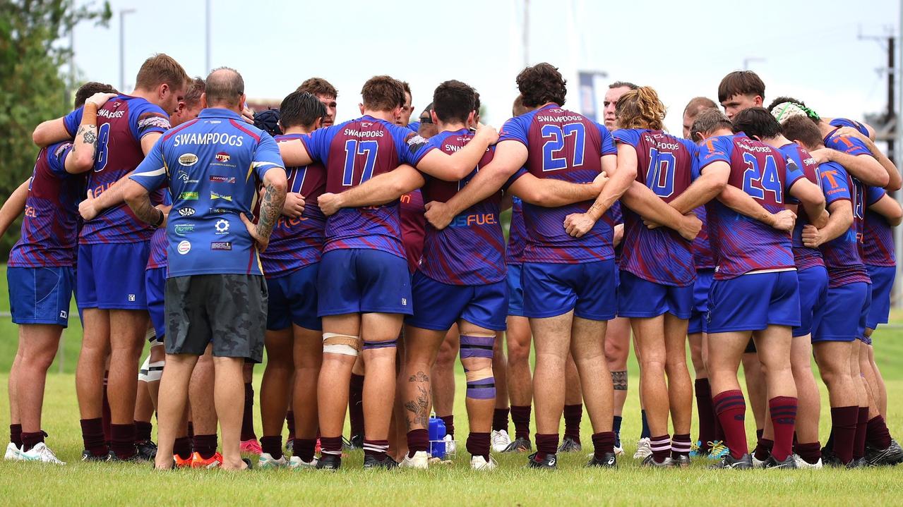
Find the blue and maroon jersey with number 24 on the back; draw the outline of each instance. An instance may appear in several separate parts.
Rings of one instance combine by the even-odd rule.
[[[746,134],[712,137],[699,147],[700,171],[715,161],[731,165],[728,185],[742,189],[771,213],[784,209],[785,195],[805,178],[796,163]],[[795,268],[790,235],[745,217],[712,199],[707,205],[709,240],[718,266],[715,280],[748,272]]]

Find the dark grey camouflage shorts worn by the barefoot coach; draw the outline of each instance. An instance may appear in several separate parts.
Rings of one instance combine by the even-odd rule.
[[[247,274],[198,274],[166,280],[166,354],[264,357],[266,282]]]

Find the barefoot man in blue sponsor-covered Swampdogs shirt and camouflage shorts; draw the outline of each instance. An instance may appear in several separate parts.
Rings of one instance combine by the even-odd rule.
[[[242,364],[260,362],[266,285],[258,252],[266,248],[285,200],[285,171],[275,141],[245,123],[245,83],[233,69],[207,78],[198,118],[163,134],[123,189],[136,217],[166,217],[149,193],[168,186],[169,272],[165,290],[166,366],[160,383],[156,467],[172,467],[191,370],[212,343],[216,409],[224,469],[242,469],[238,451],[244,397]],[[263,185],[256,224],[251,216]]]

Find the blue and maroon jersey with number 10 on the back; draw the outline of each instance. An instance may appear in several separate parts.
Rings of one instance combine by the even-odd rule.
[[[637,181],[658,198],[671,202],[684,193],[698,175],[694,170],[696,145],[661,131],[620,129],[612,134],[615,143],[637,151]],[[643,280],[685,287],[696,278],[691,243],[674,229],[649,229],[629,207],[623,207],[624,245],[620,269]]]

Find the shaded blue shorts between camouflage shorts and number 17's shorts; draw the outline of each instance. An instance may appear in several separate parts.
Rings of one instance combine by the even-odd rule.
[[[267,278],[270,299],[266,310],[266,328],[278,331],[295,326],[320,331],[317,317],[317,273],[320,263],[312,263],[300,270]]]

